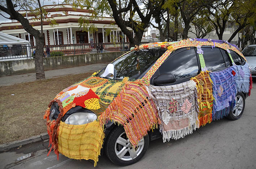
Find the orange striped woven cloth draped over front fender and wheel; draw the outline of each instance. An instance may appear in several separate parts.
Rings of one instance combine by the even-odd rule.
[[[134,147],[148,130],[160,123],[155,104],[139,81],[127,82],[98,120],[102,126],[109,120],[121,124]]]

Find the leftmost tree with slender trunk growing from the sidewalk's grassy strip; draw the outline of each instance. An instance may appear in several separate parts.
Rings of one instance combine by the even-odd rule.
[[[10,15],[8,19],[17,20],[21,23],[24,30],[35,37],[36,40],[36,53],[35,53],[35,71],[36,79],[45,79],[44,66],[43,66],[43,53],[44,53],[44,37],[43,37],[43,20],[47,15],[47,9],[41,6],[40,0],[6,0],[5,3],[2,1],[0,9],[6,14]],[[19,10],[26,10],[30,15],[33,15],[32,20],[39,20],[40,31],[33,28],[29,23],[29,19],[25,18],[24,15],[19,13]],[[5,17],[6,18],[6,17]],[[51,20],[52,24],[55,23]]]

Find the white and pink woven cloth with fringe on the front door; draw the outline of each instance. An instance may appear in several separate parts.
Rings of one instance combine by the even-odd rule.
[[[150,85],[147,89],[160,112],[163,141],[192,134],[199,124],[196,83],[190,80],[171,86]]]

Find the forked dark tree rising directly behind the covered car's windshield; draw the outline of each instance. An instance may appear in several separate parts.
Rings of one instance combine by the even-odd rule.
[[[84,1],[84,0],[81,0]],[[149,27],[153,13],[158,12],[165,0],[101,0],[94,1],[98,15],[110,14],[123,34],[130,41],[130,46],[139,45],[144,30]],[[134,31],[130,31],[129,28]]]

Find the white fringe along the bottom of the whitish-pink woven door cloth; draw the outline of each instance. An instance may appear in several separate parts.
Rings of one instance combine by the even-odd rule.
[[[189,125],[183,129],[178,129],[178,130],[169,130],[169,131],[162,131],[160,129],[160,132],[163,135],[163,142],[170,141],[170,139],[179,139],[179,138],[184,138],[188,134],[192,134],[193,130],[196,130],[197,126],[196,124]]]

